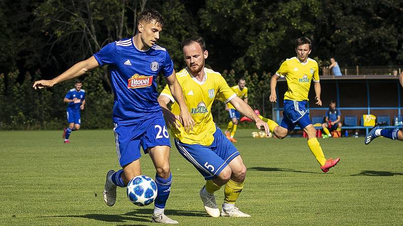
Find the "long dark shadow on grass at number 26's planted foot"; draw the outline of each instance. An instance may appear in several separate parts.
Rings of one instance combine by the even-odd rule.
[[[150,222],[151,221],[151,209],[139,208],[134,211],[130,211],[124,214],[102,214],[102,213],[92,213],[84,215],[58,215],[58,216],[38,216],[38,217],[79,217],[87,219],[95,219],[106,222],[127,222],[127,221],[137,221],[137,222]],[[167,209],[165,210],[167,216],[209,216],[206,212],[202,211],[186,211],[186,210],[175,210]],[[173,217],[174,218],[174,217]],[[141,224],[124,224],[124,225],[141,225]]]

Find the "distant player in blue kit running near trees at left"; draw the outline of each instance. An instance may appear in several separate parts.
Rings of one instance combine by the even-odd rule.
[[[77,79],[75,82],[75,88],[70,89],[69,92],[64,96],[63,101],[69,103],[67,106],[67,122],[69,123],[68,128],[64,128],[63,138],[64,144],[69,144],[70,134],[80,129],[81,125],[81,110],[84,110],[85,105],[85,90],[81,89],[83,82]]]

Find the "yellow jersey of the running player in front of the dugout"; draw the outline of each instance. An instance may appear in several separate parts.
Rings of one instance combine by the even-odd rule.
[[[286,77],[288,90],[284,94],[284,99],[308,100],[308,92],[311,80],[319,82],[318,63],[308,58],[305,63],[301,63],[297,57],[284,61],[276,74]]]

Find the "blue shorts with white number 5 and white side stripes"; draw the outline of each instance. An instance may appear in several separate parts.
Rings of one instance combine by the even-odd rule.
[[[205,180],[216,178],[221,171],[239,155],[239,151],[217,128],[210,146],[189,145],[175,139],[179,153],[204,176]]]

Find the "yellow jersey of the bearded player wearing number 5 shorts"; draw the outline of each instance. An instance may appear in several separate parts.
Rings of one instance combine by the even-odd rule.
[[[208,68],[204,68],[204,71],[205,78],[201,82],[193,77],[187,68],[176,73],[187,108],[195,124],[193,130],[188,133],[183,127],[179,129],[171,127],[171,135],[184,144],[211,145],[214,141],[213,134],[216,132],[216,125],[211,114],[214,99],[228,103],[236,96],[220,73]],[[168,85],[160,95],[167,96],[173,102],[171,111],[179,115],[179,105],[175,102]]]

